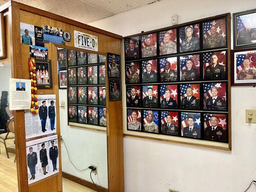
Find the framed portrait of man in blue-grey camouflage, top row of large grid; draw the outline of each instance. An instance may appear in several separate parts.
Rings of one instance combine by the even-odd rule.
[[[199,24],[191,24],[188,26],[180,27],[180,52],[199,50],[199,34]]]

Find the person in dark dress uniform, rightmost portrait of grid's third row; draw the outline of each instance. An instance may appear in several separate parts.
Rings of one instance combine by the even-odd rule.
[[[212,96],[206,99],[206,108],[209,110],[226,110],[226,102],[224,98],[218,96],[219,88],[211,87]]]

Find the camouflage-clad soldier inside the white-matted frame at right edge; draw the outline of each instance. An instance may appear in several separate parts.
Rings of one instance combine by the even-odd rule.
[[[253,80],[256,79],[256,70],[251,67],[250,58],[244,58],[244,69],[238,72],[237,80]]]

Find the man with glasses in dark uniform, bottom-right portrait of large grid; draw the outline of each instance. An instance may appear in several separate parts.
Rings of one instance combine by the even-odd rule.
[[[210,123],[211,126],[205,129],[205,139],[226,142],[226,130],[218,126],[218,117],[211,116]]]

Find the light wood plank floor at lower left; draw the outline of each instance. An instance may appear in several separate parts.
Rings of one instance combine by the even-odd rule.
[[[7,146],[12,146],[13,140],[8,140]],[[9,153],[7,158],[4,145],[0,143],[0,192],[17,192],[17,172],[14,163],[15,154]],[[95,192],[89,188],[79,185],[71,180],[62,179],[63,192]]]

